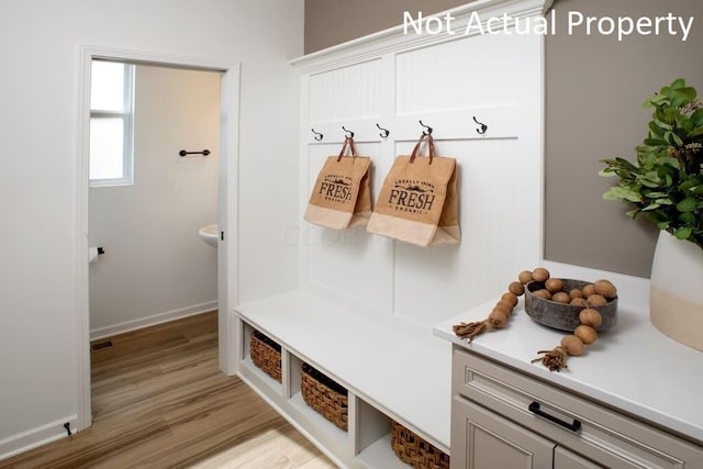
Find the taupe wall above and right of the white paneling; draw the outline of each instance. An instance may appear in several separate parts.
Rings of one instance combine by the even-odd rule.
[[[402,23],[403,11],[442,11],[466,1],[305,0],[305,52]],[[557,0],[557,34],[546,37],[545,258],[649,277],[657,231],[601,194],[614,181],[598,175],[602,158],[634,157],[646,136],[646,97],[678,77],[703,93],[703,2],[693,0]],[[569,35],[567,14],[695,16],[681,36]]]

